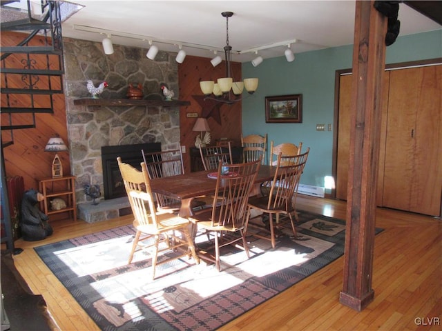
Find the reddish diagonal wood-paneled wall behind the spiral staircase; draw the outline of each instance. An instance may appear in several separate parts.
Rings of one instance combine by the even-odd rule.
[[[27,34],[17,32],[1,32],[1,46],[16,46],[26,37]],[[40,37],[32,39],[32,43],[41,42]],[[46,59],[43,57],[43,59]],[[12,55],[5,60],[17,61],[17,58]],[[8,68],[8,66],[6,66]],[[17,64],[15,65],[17,68]],[[23,64],[24,67],[24,64]],[[53,65],[51,64],[51,68]],[[19,76],[19,75],[15,75]],[[16,79],[19,77],[15,77]],[[23,87],[21,81],[11,81],[12,77],[8,76],[8,86]],[[2,77],[1,86],[4,81]],[[11,85],[12,84],[12,85]],[[57,87],[59,88],[59,87]],[[20,106],[20,103],[25,95],[14,94],[10,103],[12,106]],[[5,170],[7,177],[23,176],[25,183],[25,190],[30,188],[38,189],[37,179],[44,177],[51,177],[52,160],[55,154],[52,152],[45,152],[44,148],[50,137],[58,135],[68,144],[68,132],[66,128],[66,106],[64,94],[54,94],[52,97],[54,102],[53,114],[35,114],[35,128],[14,130],[14,143],[4,148],[3,156],[5,158]],[[46,102],[46,104],[44,104]],[[49,99],[41,101],[38,107],[50,107]],[[1,106],[6,106],[6,97],[1,95]],[[7,114],[1,114],[1,125],[8,125],[9,117]],[[32,124],[31,114],[15,114],[13,119],[14,125]],[[1,131],[1,142],[11,141],[10,131]],[[63,164],[64,174],[70,174],[70,161],[68,152],[58,153],[61,163]]]

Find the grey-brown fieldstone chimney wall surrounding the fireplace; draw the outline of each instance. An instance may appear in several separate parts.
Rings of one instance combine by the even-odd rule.
[[[84,194],[86,184],[99,184],[102,192],[106,191],[104,146],[147,143],[158,144],[163,150],[180,148],[179,107],[74,104],[75,99],[90,97],[86,88],[88,79],[95,86],[102,81],[108,83],[99,96],[102,99],[127,99],[130,83],[142,85],[144,99],[162,99],[162,84],[174,90],[178,98],[176,53],[159,52],[155,61],[151,61],[146,58],[146,52],[144,48],[114,45],[114,54],[106,55],[101,43],[64,38],[66,122],[71,173],[77,177],[77,205],[92,202]],[[141,148],[137,147],[137,153],[141,157]],[[109,198],[106,193],[102,195],[106,197],[101,198],[99,205]]]

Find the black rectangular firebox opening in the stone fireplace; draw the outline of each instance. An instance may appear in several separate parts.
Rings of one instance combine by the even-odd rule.
[[[134,145],[102,146],[104,199],[126,196],[126,190],[119,172],[117,157],[124,163],[141,170],[144,152],[161,152],[161,143],[137,143]]]

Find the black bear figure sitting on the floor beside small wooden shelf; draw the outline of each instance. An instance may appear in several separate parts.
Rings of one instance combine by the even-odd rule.
[[[52,227],[48,223],[48,215],[41,212],[37,207],[37,203],[43,199],[43,194],[34,189],[30,189],[23,194],[20,217],[21,237],[23,237],[23,240],[42,240],[53,232]]]

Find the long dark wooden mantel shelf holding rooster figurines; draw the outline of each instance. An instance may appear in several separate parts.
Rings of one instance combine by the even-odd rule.
[[[83,106],[151,106],[180,107],[189,106],[190,101],[136,100],[136,99],[75,99],[74,105]]]

